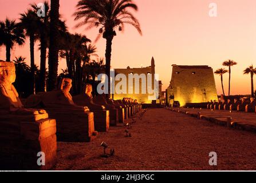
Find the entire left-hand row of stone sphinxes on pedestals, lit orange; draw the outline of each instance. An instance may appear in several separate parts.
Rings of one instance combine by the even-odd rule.
[[[57,141],[90,142],[98,132],[124,124],[141,109],[131,98],[93,98],[89,83],[82,94],[72,97],[70,78],[62,78],[57,90],[29,96],[23,105],[13,85],[13,62],[0,61],[0,80],[1,169],[52,169],[57,162]],[[44,166],[38,166],[41,153]]]

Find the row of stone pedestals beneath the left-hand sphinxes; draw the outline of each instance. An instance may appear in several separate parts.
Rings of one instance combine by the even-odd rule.
[[[112,118],[110,124],[114,126],[117,121],[124,122],[125,117],[131,117],[140,109],[140,105],[112,109],[112,116],[109,116],[109,110],[81,113],[77,110],[49,108],[46,111],[54,120],[45,114],[47,116],[43,118],[31,118],[30,122],[17,122],[17,119],[22,121],[24,116],[1,115],[0,169],[48,170],[57,161],[57,141],[90,142],[96,138],[97,131],[108,131],[109,118]],[[39,152],[45,154],[44,166],[37,164]]]

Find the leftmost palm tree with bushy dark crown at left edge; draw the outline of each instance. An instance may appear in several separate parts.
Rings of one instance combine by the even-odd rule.
[[[6,47],[7,62],[11,61],[11,49],[13,49],[14,43],[23,45],[24,42],[23,30],[14,20],[6,18],[4,22],[0,21],[0,46],[5,45]]]

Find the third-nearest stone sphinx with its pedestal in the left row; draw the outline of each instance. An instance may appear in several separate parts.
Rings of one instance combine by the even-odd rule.
[[[98,132],[107,132],[109,129],[109,110],[105,110],[102,105],[94,104],[92,100],[92,85],[89,83],[85,86],[85,91],[73,97],[75,104],[80,106],[88,106],[94,116],[94,128]]]

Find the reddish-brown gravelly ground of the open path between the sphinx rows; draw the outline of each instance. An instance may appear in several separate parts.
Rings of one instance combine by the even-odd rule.
[[[58,142],[55,170],[256,170],[255,133],[166,109],[150,109],[136,121],[129,138],[116,126],[90,143]],[[115,156],[101,157],[102,141]],[[217,166],[208,164],[210,152]]]

